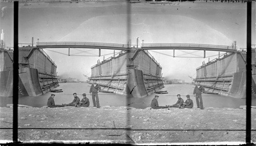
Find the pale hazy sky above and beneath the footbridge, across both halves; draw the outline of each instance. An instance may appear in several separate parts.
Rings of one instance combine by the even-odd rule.
[[[254,3],[254,2],[253,2]],[[127,14],[126,1],[118,2],[80,2],[76,3],[28,3],[19,6],[19,42],[34,41],[76,41],[126,44],[131,40],[143,43],[199,43],[246,47],[246,4],[220,2],[174,2],[172,4],[131,4]],[[31,5],[30,5],[31,4]],[[2,15],[0,29],[5,31],[5,43],[12,46],[13,4],[0,3]],[[129,4],[130,5],[130,4]],[[252,30],[255,44],[255,3],[253,4]],[[127,17],[131,21],[127,21]],[[131,26],[130,33],[127,27]],[[37,40],[39,39],[39,40]],[[90,49],[71,49],[71,54]],[[67,49],[45,50],[55,61],[60,76],[85,80],[91,75],[91,66],[102,61],[102,57],[66,56]],[[55,52],[53,52],[55,51]],[[158,52],[158,53],[157,53]],[[176,51],[176,56],[195,51]],[[111,54],[104,50],[101,54]],[[196,77],[196,68],[208,58],[170,57],[172,50],[150,51],[162,66],[163,77],[182,79],[190,82],[188,76]],[[160,54],[161,53],[161,54]],[[166,54],[166,55],[163,55]],[[218,52],[206,52],[206,56]],[[77,55],[98,55],[98,51]],[[187,57],[203,56],[203,52]],[[111,55],[105,55],[105,58]],[[210,57],[212,60],[217,56]]]

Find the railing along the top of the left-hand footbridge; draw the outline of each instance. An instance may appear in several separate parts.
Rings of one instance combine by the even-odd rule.
[[[109,46],[109,47],[129,47],[127,44],[116,43],[97,43],[97,42],[38,42],[37,46],[52,46],[52,45],[84,45],[84,46]]]

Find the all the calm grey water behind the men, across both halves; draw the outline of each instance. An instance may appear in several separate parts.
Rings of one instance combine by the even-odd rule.
[[[90,100],[90,106],[93,106],[92,97],[89,94],[90,84],[87,83],[60,83],[60,86],[56,89],[62,89],[63,92],[55,94],[55,104],[67,104],[73,101],[73,93],[76,92],[78,97],[82,99],[82,93],[87,93],[87,97]],[[167,90],[168,94],[158,94],[159,106],[172,105],[177,101],[177,94],[181,94],[181,98],[185,100],[185,95],[192,95],[194,85],[165,85],[162,90]],[[50,97],[51,92],[37,97],[33,96],[20,96],[19,104],[28,105],[32,107],[46,106],[47,100]],[[126,100],[125,95],[119,95],[114,93],[99,93],[100,106],[131,106],[135,108],[150,107],[150,103],[156,94],[147,96],[146,98],[129,98]],[[196,107],[196,99],[191,96],[191,100],[194,101],[194,107]],[[12,98],[1,97],[0,106],[5,107],[6,104],[12,104]],[[203,94],[204,107],[217,107],[217,108],[239,108],[241,105],[245,105],[245,99],[235,99],[226,96]],[[252,105],[256,106],[256,99],[252,100]]]

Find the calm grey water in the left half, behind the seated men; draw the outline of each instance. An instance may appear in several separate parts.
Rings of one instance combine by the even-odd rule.
[[[67,104],[71,103],[74,99],[73,93],[76,92],[77,96],[82,99],[82,93],[87,94],[87,98],[90,100],[90,106],[93,106],[92,96],[90,96],[90,84],[87,83],[60,83],[60,86],[56,89],[62,89],[63,92],[54,93],[55,94],[55,104]],[[52,92],[40,96],[20,96],[19,104],[28,105],[33,107],[42,107],[47,105],[48,98],[51,96]],[[126,99],[124,95],[118,95],[114,93],[99,93],[100,106],[125,106]],[[1,107],[6,106],[6,104],[12,103],[12,98],[1,97],[0,99]]]

